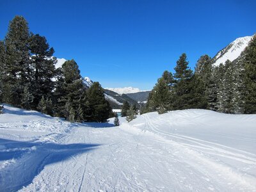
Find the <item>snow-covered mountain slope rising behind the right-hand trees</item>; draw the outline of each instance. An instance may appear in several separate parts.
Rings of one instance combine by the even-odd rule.
[[[230,60],[234,61],[238,58],[242,51],[244,51],[245,47],[248,46],[250,40],[253,36],[244,36],[237,38],[229,44],[227,47],[219,51],[216,56],[212,59],[214,63],[212,65],[218,66],[220,63],[225,64],[225,61]]]

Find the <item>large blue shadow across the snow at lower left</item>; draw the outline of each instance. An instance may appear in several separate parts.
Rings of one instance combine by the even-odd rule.
[[[60,145],[0,139],[0,162],[13,161],[5,167],[4,163],[0,164],[0,191],[17,191],[28,186],[47,164],[64,161],[99,146],[91,143]]]

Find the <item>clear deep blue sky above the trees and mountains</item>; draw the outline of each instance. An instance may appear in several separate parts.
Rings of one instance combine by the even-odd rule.
[[[237,37],[256,33],[256,1],[0,1],[0,39],[22,15],[54,56],[74,58],[103,87],[151,89],[186,52],[195,67]]]

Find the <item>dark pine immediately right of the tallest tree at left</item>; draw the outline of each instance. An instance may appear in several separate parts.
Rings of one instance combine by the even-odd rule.
[[[33,68],[33,87],[34,108],[38,105],[43,95],[51,95],[54,88],[52,78],[55,75],[54,63],[56,58],[52,58],[54,49],[49,48],[49,44],[44,36],[38,34],[31,35],[29,40],[29,49],[31,51],[31,66]]]

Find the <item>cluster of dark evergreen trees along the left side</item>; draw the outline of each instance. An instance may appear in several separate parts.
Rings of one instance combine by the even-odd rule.
[[[86,88],[74,60],[55,68],[45,36],[29,31],[16,16],[0,41],[0,102],[34,109],[70,122],[105,122],[113,116],[98,82]]]

